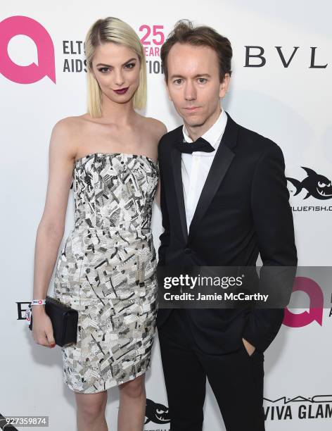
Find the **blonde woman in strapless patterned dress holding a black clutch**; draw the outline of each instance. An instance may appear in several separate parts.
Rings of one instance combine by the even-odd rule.
[[[79,313],[77,342],[62,348],[78,430],[108,430],[107,389],[117,385],[118,430],[140,431],[157,311],[151,212],[167,130],[135,111],[146,104],[146,60],[132,27],[97,20],[85,50],[88,112],[60,120],[51,135],[33,299],[46,298],[56,265],[54,296]],[[71,182],[75,227],[56,260]],[[32,306],[32,315],[34,341],[53,347],[44,305]]]

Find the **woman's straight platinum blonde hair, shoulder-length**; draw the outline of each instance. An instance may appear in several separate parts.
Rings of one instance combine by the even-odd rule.
[[[92,70],[92,59],[97,46],[106,42],[124,45],[139,57],[139,87],[134,94],[134,109],[146,107],[146,57],[138,35],[130,25],[119,18],[108,17],[91,25],[85,39],[87,57],[88,111],[91,117],[101,117],[102,93]]]

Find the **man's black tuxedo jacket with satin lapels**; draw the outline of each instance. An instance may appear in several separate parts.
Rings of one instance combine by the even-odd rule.
[[[158,144],[162,226],[159,266],[296,266],[293,216],[277,144],[227,123],[189,233],[181,179],[182,126]],[[172,309],[158,311],[157,325],[167,325]],[[242,337],[264,351],[281,327],[283,308],[188,309],[193,337],[202,351],[222,354],[241,346]]]

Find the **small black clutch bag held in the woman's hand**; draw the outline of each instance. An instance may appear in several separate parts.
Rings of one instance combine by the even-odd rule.
[[[63,304],[58,299],[46,296],[45,311],[51,319],[56,344],[62,347],[75,343],[77,341],[77,310]],[[32,313],[29,329],[32,330]]]

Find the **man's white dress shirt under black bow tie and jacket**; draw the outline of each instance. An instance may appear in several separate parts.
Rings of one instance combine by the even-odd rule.
[[[208,177],[212,161],[215,158],[217,149],[227,123],[227,115],[224,110],[220,113],[219,118],[207,132],[202,135],[215,149],[212,153],[204,151],[195,151],[193,154],[181,154],[181,174],[182,185],[184,187],[184,208],[186,209],[187,230],[193,219],[200,193],[202,192],[205,180]],[[182,127],[185,142],[193,142],[189,137],[186,126]]]

